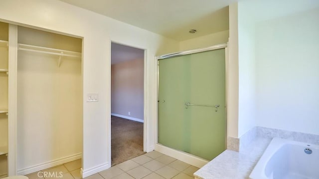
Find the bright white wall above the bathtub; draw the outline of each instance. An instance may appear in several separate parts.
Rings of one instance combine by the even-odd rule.
[[[237,4],[238,137],[255,125],[318,134],[318,1]],[[230,14],[233,11],[230,6]],[[230,50],[236,46],[232,20],[230,16]],[[235,131],[236,126],[230,127]]]

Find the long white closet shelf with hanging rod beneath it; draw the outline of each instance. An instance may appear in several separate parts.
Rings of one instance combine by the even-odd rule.
[[[56,49],[56,48],[48,48],[48,47],[41,47],[41,46],[35,46],[35,45],[27,45],[19,43],[19,50],[24,51],[31,51],[31,52],[38,52],[38,53],[45,53],[45,54],[51,54],[51,55],[58,55],[58,56],[69,56],[69,57],[82,57],[82,53],[75,52],[75,51],[68,51],[68,50],[62,50],[62,49]]]

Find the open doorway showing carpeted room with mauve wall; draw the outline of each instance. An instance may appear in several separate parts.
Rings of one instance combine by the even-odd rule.
[[[111,165],[144,154],[144,50],[111,43]]]

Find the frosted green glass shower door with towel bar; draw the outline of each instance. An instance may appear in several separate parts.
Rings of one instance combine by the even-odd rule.
[[[206,160],[222,153],[226,149],[225,49],[160,59],[158,100],[160,144]]]

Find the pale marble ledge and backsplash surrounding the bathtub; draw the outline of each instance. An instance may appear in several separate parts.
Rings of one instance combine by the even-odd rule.
[[[240,138],[227,138],[227,150],[194,173],[195,179],[249,179],[274,137],[319,145],[319,135],[256,126]]]

